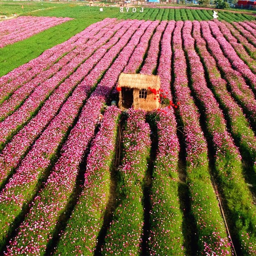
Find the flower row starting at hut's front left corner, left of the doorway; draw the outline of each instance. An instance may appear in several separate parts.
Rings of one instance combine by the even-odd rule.
[[[84,190],[55,250],[60,254],[94,255],[110,196],[110,173],[115,156],[120,110],[110,107],[87,158]],[[75,243],[74,243],[75,241]]]

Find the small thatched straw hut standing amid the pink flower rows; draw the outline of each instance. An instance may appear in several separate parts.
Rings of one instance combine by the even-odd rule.
[[[159,90],[159,76],[121,73],[118,87],[121,88],[118,102],[121,110],[133,107],[150,111],[159,108],[158,100],[154,99],[156,95],[148,89],[150,87]]]

